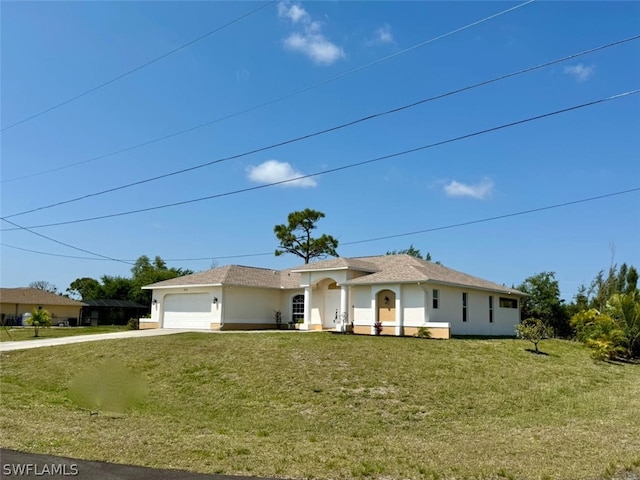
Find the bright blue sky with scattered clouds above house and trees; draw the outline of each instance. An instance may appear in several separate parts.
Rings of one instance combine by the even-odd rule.
[[[11,216],[640,33],[637,2],[523,3],[273,2],[18,123],[263,4],[2,2],[2,216],[38,227],[225,194],[640,88],[640,40],[634,40],[308,140]],[[640,95],[629,95],[288,184],[32,232],[119,260],[159,255],[170,266],[195,271],[214,260],[280,269],[300,262],[270,253],[277,246],[273,226],[291,211],[313,208],[326,214],[318,233],[337,237],[342,256],[413,244],[447,266],[498,283],[554,271],[570,299],[612,258],[640,266],[640,192],[352,242],[638,188],[639,107]],[[91,160],[204,123],[211,124]],[[129,275],[126,262],[73,250],[4,221],[0,228],[3,287],[46,280],[64,291],[79,277]],[[248,256],[224,258],[241,255]]]

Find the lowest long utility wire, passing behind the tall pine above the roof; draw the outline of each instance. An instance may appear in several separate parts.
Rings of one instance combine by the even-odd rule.
[[[504,218],[511,218],[511,217],[518,217],[521,215],[529,215],[531,213],[536,213],[536,212],[543,212],[546,210],[553,210],[556,208],[563,208],[563,207],[568,207],[571,205],[578,205],[581,203],[587,203],[587,202],[594,202],[597,200],[603,200],[605,198],[611,198],[611,197],[615,197],[615,196],[619,196],[619,195],[627,195],[630,193],[635,193],[635,192],[639,192],[640,191],[640,187],[636,187],[636,188],[630,188],[628,190],[620,190],[617,192],[611,192],[611,193],[605,193],[602,195],[597,195],[595,197],[588,197],[588,198],[581,198],[579,200],[571,200],[568,202],[563,202],[563,203],[555,203],[553,205],[546,205],[544,207],[537,207],[537,208],[531,208],[528,210],[520,210],[518,212],[511,212],[511,213],[505,213],[503,215],[496,215],[494,217],[485,217],[485,218],[480,218],[477,220],[469,220],[467,222],[460,222],[460,223],[452,223],[449,225],[441,225],[438,227],[430,227],[430,228],[425,228],[422,230],[415,230],[413,232],[405,232],[405,233],[397,233],[394,235],[386,235],[383,237],[374,237],[374,238],[367,238],[364,240],[354,240],[352,242],[343,242],[340,245],[341,246],[345,246],[345,245],[357,245],[357,244],[361,244],[361,243],[370,243],[370,242],[377,242],[380,240],[387,240],[390,238],[399,238],[399,237],[408,237],[408,236],[412,236],[412,235],[419,235],[419,234],[423,234],[423,233],[430,233],[430,232],[436,232],[436,231],[440,231],[440,230],[450,230],[452,228],[460,228],[460,227],[466,227],[469,225],[475,225],[478,223],[486,223],[486,222],[493,222],[496,220],[502,220]],[[17,247],[15,245],[8,245],[5,243],[0,243],[0,245],[2,245],[3,247],[8,247],[8,248],[14,248],[17,250],[23,250],[26,252],[31,252],[31,253],[38,253],[41,255],[47,255],[47,256],[54,256],[54,257],[66,257],[66,258],[77,258],[77,259],[81,259],[81,260],[103,260],[100,258],[93,258],[93,257],[75,257],[75,256],[71,256],[71,255],[61,255],[61,254],[56,254],[56,253],[48,253],[48,252],[41,252],[38,250],[30,250],[27,248],[22,248],[22,247]],[[211,257],[198,257],[198,258],[169,258],[169,259],[165,259],[166,262],[190,262],[190,261],[201,261],[201,260],[212,260],[212,259],[216,259],[216,260],[227,260],[227,259],[233,259],[233,258],[246,258],[246,257],[262,257],[262,256],[266,256],[266,255],[273,255],[273,251],[271,252],[265,252],[265,253],[248,253],[248,254],[244,254],[244,255],[226,255],[226,256],[211,256]],[[128,260],[133,262],[133,260]]]

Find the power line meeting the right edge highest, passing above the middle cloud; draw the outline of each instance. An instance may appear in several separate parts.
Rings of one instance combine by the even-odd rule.
[[[501,81],[501,80],[505,80],[505,79],[508,79],[508,78],[511,78],[511,77],[522,75],[524,73],[529,73],[529,72],[532,72],[534,70],[538,70],[538,69],[541,69],[541,68],[544,68],[544,67],[548,67],[548,66],[555,65],[555,64],[558,64],[558,63],[562,63],[562,62],[565,62],[565,61],[568,61],[568,60],[572,60],[574,58],[581,57],[581,56],[584,56],[584,55],[587,55],[587,54],[590,54],[590,53],[594,53],[594,52],[597,52],[597,51],[600,51],[600,50],[604,50],[606,48],[610,48],[610,47],[613,47],[613,46],[621,45],[623,43],[627,43],[627,42],[630,42],[630,41],[633,41],[633,40],[637,40],[638,38],[640,38],[640,35],[635,35],[633,37],[625,38],[623,40],[618,40],[616,42],[608,43],[606,45],[601,45],[599,47],[591,48],[589,50],[584,50],[584,51],[579,52],[579,53],[574,53],[574,54],[571,54],[571,55],[567,55],[567,56],[564,56],[562,58],[559,58],[559,59],[556,59],[556,60],[552,60],[552,61],[549,61],[549,62],[546,62],[546,63],[541,63],[541,64],[538,64],[538,65],[534,65],[532,67],[527,67],[527,68],[524,68],[522,70],[518,70],[516,72],[512,72],[512,73],[508,73],[508,74],[505,74],[505,75],[502,75],[502,76],[499,76],[499,77],[492,78],[490,80],[485,80],[485,81],[482,81],[482,82],[479,82],[479,83],[475,83],[473,85],[462,87],[462,88],[459,88],[457,90],[451,90],[449,92],[446,92],[446,93],[443,93],[443,94],[440,94],[440,95],[436,95],[436,96],[433,96],[433,97],[425,98],[425,99],[422,99],[422,100],[419,100],[419,101],[416,101],[416,102],[412,102],[410,104],[403,105],[403,106],[397,107],[397,108],[393,108],[391,110],[386,110],[384,112],[379,112],[379,113],[375,113],[375,114],[372,114],[372,115],[367,115],[366,117],[362,117],[362,118],[359,118],[357,120],[353,120],[353,121],[350,121],[350,122],[347,122],[347,123],[343,123],[343,124],[340,124],[340,125],[337,125],[337,126],[334,126],[334,127],[331,127],[331,128],[327,128],[327,129],[324,129],[324,130],[320,130],[320,131],[317,131],[317,132],[314,132],[314,133],[310,133],[310,134],[307,134],[307,135],[295,137],[295,138],[292,138],[292,139],[289,139],[289,140],[285,140],[285,141],[282,141],[282,142],[279,142],[279,143],[274,143],[274,144],[271,144],[271,145],[268,145],[268,146],[265,146],[265,147],[256,148],[254,150],[249,150],[247,152],[243,152],[243,153],[239,153],[239,154],[235,154],[235,155],[231,155],[231,156],[227,156],[227,157],[222,157],[222,158],[219,158],[219,159],[216,159],[216,160],[212,160],[210,162],[205,162],[205,163],[201,163],[201,164],[198,164],[198,165],[194,165],[192,167],[183,168],[183,169],[180,169],[180,170],[175,170],[173,172],[165,173],[165,174],[162,174],[162,175],[157,175],[157,176],[154,176],[154,177],[149,177],[149,178],[146,178],[146,179],[143,179],[143,180],[138,180],[136,182],[128,183],[128,184],[125,184],[125,185],[120,185],[118,187],[113,187],[113,188],[109,188],[109,189],[106,189],[106,190],[101,190],[101,191],[98,191],[98,192],[89,193],[89,194],[86,194],[86,195],[81,195],[79,197],[71,198],[71,199],[68,199],[68,200],[63,200],[63,201],[56,202],[56,203],[51,203],[49,205],[44,205],[44,206],[37,207],[37,208],[32,208],[30,210],[25,210],[23,212],[13,213],[11,215],[6,215],[4,218],[17,217],[17,216],[20,216],[20,215],[26,215],[28,213],[33,213],[33,212],[46,210],[46,209],[53,208],[53,207],[58,207],[58,206],[61,206],[61,205],[66,205],[66,204],[77,202],[77,201],[80,201],[80,200],[85,200],[85,199],[88,199],[88,198],[97,197],[97,196],[104,195],[104,194],[107,194],[107,193],[116,192],[118,190],[123,190],[123,189],[130,188],[130,187],[133,187],[133,186],[143,185],[143,184],[149,183],[149,182],[154,182],[156,180],[160,180],[160,179],[163,179],[163,178],[167,178],[167,177],[171,177],[171,176],[175,176],[175,175],[180,175],[180,174],[183,174],[183,173],[191,172],[191,171],[194,171],[194,170],[198,170],[200,168],[209,167],[211,165],[215,165],[215,164],[218,164],[218,163],[226,162],[226,161],[229,161],[229,160],[235,160],[235,159],[238,159],[238,158],[241,158],[241,157],[252,155],[254,153],[264,152],[264,151],[271,150],[271,149],[274,149],[274,148],[277,148],[277,147],[281,147],[281,146],[284,146],[284,145],[289,145],[289,144],[292,144],[292,143],[300,142],[302,140],[307,140],[307,139],[312,138],[312,137],[324,135],[324,134],[330,133],[330,132],[335,132],[337,130],[341,130],[343,128],[347,128],[347,127],[350,127],[350,126],[353,126],[353,125],[356,125],[356,124],[359,124],[359,123],[362,123],[362,122],[366,122],[366,121],[369,121],[369,120],[380,118],[380,117],[383,117],[385,115],[390,115],[390,114],[401,112],[403,110],[414,108],[414,107],[417,107],[419,105],[425,104],[427,102],[431,102],[431,101],[434,101],[434,100],[439,100],[439,99],[442,99],[442,98],[445,98],[445,97],[456,95],[458,93],[462,93],[462,92],[465,92],[465,91],[468,91],[468,90],[472,90],[474,88],[478,88],[478,87],[482,87],[482,86],[485,86],[485,85],[489,85],[491,83],[495,83],[495,82],[498,82],[498,81]]]

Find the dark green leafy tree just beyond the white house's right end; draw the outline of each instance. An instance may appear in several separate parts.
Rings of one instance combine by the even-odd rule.
[[[542,320],[553,328],[558,336],[571,334],[569,317],[564,300],[560,299],[560,286],[554,272],[541,272],[525,279],[517,287],[528,296],[522,300],[522,319],[530,317]]]

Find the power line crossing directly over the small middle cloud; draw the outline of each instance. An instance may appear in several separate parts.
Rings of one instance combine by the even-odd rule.
[[[548,118],[548,117],[552,117],[552,116],[555,116],[555,115],[559,115],[561,113],[566,113],[566,112],[578,110],[578,109],[581,109],[581,108],[594,106],[594,105],[597,105],[597,104],[600,104],[600,103],[604,103],[604,102],[608,102],[608,101],[611,101],[611,100],[616,100],[616,99],[620,99],[620,98],[627,97],[627,96],[630,96],[630,95],[635,95],[637,93],[640,93],[640,89],[631,90],[631,91],[624,92],[624,93],[619,93],[619,94],[616,94],[616,95],[612,95],[610,97],[601,98],[599,100],[594,100],[594,101],[583,103],[583,104],[580,104],[580,105],[574,105],[572,107],[567,107],[567,108],[563,108],[563,109],[556,110],[556,111],[553,111],[553,112],[544,113],[542,115],[536,115],[534,117],[528,117],[528,118],[525,118],[523,120],[517,120],[517,121],[514,121],[514,122],[510,122],[510,123],[505,123],[505,124],[499,125],[497,127],[491,127],[491,128],[487,128],[487,129],[484,129],[484,130],[479,130],[479,131],[476,131],[476,132],[473,132],[473,133],[468,133],[468,134],[460,135],[458,137],[450,138],[450,139],[447,139],[447,140],[442,140],[440,142],[431,143],[431,144],[428,144],[428,145],[422,145],[420,147],[415,147],[415,148],[411,148],[411,149],[408,149],[408,150],[403,150],[401,152],[396,152],[396,153],[392,153],[392,154],[388,154],[388,155],[383,155],[381,157],[376,157],[376,158],[372,158],[372,159],[369,159],[369,160],[363,160],[363,161],[360,161],[360,162],[350,163],[350,164],[343,165],[343,166],[340,166],[340,167],[330,168],[330,169],[322,170],[322,171],[319,171],[319,172],[310,173],[310,174],[307,174],[307,175],[300,175],[300,176],[295,177],[295,178],[290,178],[290,179],[287,179],[287,180],[281,180],[281,181],[278,181],[278,182],[272,182],[272,183],[267,183],[267,184],[264,184],[264,185],[257,185],[257,186],[254,186],[254,187],[248,187],[248,188],[243,188],[243,189],[238,189],[238,190],[232,190],[230,192],[219,193],[219,194],[215,194],[215,195],[208,195],[206,197],[200,197],[200,198],[195,198],[195,199],[191,199],[191,200],[184,200],[184,201],[180,201],[180,202],[173,202],[173,203],[167,203],[167,204],[163,204],[163,205],[157,205],[155,207],[147,207],[147,208],[141,208],[141,209],[137,209],[137,210],[128,210],[128,211],[125,211],[125,212],[111,213],[111,214],[108,214],[108,215],[100,215],[100,216],[95,216],[95,217],[83,218],[83,219],[79,219],[79,220],[68,220],[68,221],[64,221],[64,222],[48,223],[48,224],[43,224],[43,225],[33,225],[33,226],[30,226],[29,228],[45,228],[45,227],[54,227],[54,226],[60,226],[60,225],[71,225],[71,224],[75,224],[75,223],[83,223],[83,222],[89,222],[89,221],[94,221],[94,220],[103,220],[103,219],[106,219],[106,218],[114,218],[114,217],[120,217],[120,216],[125,216],[125,215],[132,215],[132,214],[135,214],[135,213],[149,212],[149,211],[153,211],[153,210],[160,210],[160,209],[163,209],[163,208],[176,207],[176,206],[180,206],[180,205],[187,205],[187,204],[191,204],[191,203],[202,202],[204,200],[211,200],[211,199],[214,199],[214,198],[228,197],[228,196],[237,195],[237,194],[240,194],[240,193],[251,192],[251,191],[254,191],[254,190],[261,190],[263,188],[273,187],[273,186],[276,186],[276,185],[283,185],[283,184],[286,184],[286,183],[295,182],[295,181],[298,181],[298,180],[301,180],[301,179],[305,179],[305,178],[325,175],[327,173],[335,173],[335,172],[348,170],[348,169],[351,169],[351,168],[360,167],[360,166],[363,166],[363,165],[368,165],[368,164],[371,164],[371,163],[379,162],[379,161],[382,161],[382,160],[388,160],[390,158],[396,158],[396,157],[400,157],[400,156],[403,156],[403,155],[408,155],[410,153],[415,153],[415,152],[419,152],[419,151],[426,150],[426,149],[429,149],[429,148],[433,148],[433,147],[437,147],[437,146],[441,146],[441,145],[446,145],[448,143],[453,143],[453,142],[457,142],[457,141],[460,141],[460,140],[465,140],[467,138],[472,138],[472,137],[476,137],[476,136],[479,136],[479,135],[484,135],[486,133],[495,132],[495,131],[498,131],[498,130],[503,130],[505,128],[514,127],[516,125],[522,125],[522,124],[529,123],[529,122],[532,122],[532,121],[535,121],[535,120],[540,120],[540,119],[543,119],[543,118]],[[4,217],[0,217],[0,218],[4,219]],[[0,229],[0,231],[10,231],[10,230],[16,230],[16,229],[15,228]]]

